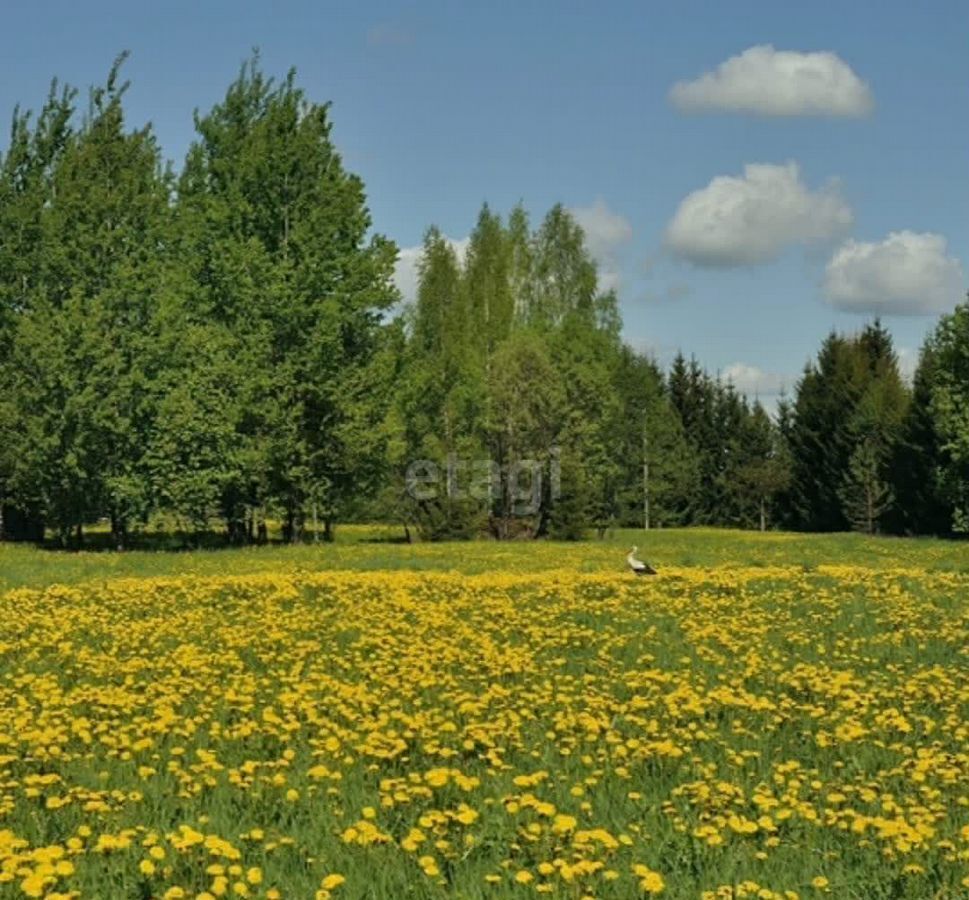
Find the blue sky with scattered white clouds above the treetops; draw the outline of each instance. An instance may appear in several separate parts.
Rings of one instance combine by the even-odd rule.
[[[431,223],[460,241],[485,200],[536,221],[560,201],[618,285],[630,342],[694,353],[768,400],[831,328],[876,310],[910,364],[965,291],[965,2],[91,0],[4,20],[0,112],[39,105],[54,75],[97,82],[129,49],[131,121],[176,165],[193,108],[258,46],[333,102],[375,226],[402,248]],[[787,83],[804,60],[821,87]]]

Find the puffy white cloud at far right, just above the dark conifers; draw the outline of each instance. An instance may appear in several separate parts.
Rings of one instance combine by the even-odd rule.
[[[849,240],[824,273],[828,302],[849,312],[948,312],[965,290],[962,265],[940,234],[893,231],[883,241]]]

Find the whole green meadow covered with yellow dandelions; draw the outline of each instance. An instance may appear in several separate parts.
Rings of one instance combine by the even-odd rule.
[[[0,546],[0,897],[969,897],[966,545],[383,536]]]

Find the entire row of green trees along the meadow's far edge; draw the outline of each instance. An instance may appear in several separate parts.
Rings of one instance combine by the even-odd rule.
[[[429,228],[404,304],[292,74],[246,64],[176,170],[126,122],[122,62],[83,107],[55,83],[15,111],[0,157],[0,537],[969,530],[969,305],[911,385],[875,321],[769,415],[624,344],[564,207],[485,206],[461,255]]]

